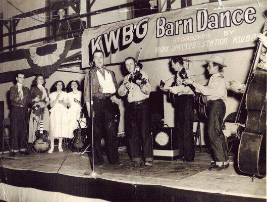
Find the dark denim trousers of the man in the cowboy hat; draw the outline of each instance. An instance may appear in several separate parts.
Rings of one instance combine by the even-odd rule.
[[[216,162],[226,162],[229,160],[226,139],[222,131],[225,110],[225,103],[222,99],[209,100],[207,103],[207,133]]]

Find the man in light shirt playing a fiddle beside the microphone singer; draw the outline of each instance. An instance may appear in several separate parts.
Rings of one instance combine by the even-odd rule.
[[[134,71],[136,70],[134,58],[126,58],[124,63],[129,74],[124,77],[118,93],[120,96],[127,95],[129,103],[126,109],[126,116],[129,118],[129,146],[133,162],[132,166],[141,166],[142,157],[145,160],[145,166],[152,166],[152,141],[147,107],[147,98],[151,87],[147,74],[142,70],[139,72],[142,78],[137,79],[136,82],[133,82],[133,79],[130,78],[134,76]],[[141,155],[140,142],[142,142],[143,155]]]

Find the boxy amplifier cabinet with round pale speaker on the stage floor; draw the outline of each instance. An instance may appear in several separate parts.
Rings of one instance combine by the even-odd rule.
[[[152,131],[153,157],[155,160],[174,161],[179,155],[177,129],[157,128]]]

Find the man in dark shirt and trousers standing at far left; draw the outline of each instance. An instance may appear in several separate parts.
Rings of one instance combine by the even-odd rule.
[[[10,88],[11,111],[11,157],[15,157],[18,152],[29,155],[27,151],[28,118],[27,105],[31,102],[30,90],[23,85],[24,74],[18,73],[17,84]]]

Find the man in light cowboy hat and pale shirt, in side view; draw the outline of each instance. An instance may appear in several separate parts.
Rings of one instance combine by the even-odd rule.
[[[207,70],[211,74],[206,86],[191,79],[184,79],[183,83],[186,85],[192,84],[196,91],[207,96],[208,137],[216,162],[209,167],[209,170],[219,171],[229,167],[226,140],[221,128],[225,116],[227,97],[226,83],[221,72],[226,65],[224,64],[224,58],[218,55],[212,55],[205,62],[208,63]]]

